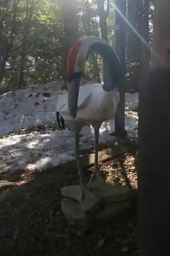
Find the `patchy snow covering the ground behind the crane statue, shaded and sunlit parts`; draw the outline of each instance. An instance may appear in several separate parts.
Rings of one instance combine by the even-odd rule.
[[[36,89],[17,90],[0,97],[0,137],[22,128],[55,123],[55,108],[60,87],[41,84]],[[138,94],[126,94],[126,102],[138,104]],[[134,129],[137,117],[126,116],[127,131],[137,136]],[[110,143],[114,132],[114,120],[104,122],[100,129],[100,143]],[[93,129],[84,127],[81,131],[80,148],[88,149],[93,144]],[[65,131],[7,136],[0,139],[1,173],[14,172],[24,168],[46,168],[74,159],[74,138]]]

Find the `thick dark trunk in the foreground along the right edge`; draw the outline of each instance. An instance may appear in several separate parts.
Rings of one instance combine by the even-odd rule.
[[[151,69],[139,93],[140,256],[169,252],[169,30],[170,1],[155,0]]]

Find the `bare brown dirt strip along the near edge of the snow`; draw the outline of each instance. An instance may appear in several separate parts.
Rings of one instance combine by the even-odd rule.
[[[130,150],[130,152],[134,155],[136,152],[136,141],[132,139],[128,139],[124,141],[124,151]],[[114,158],[118,153],[118,147],[114,144],[112,148],[104,148],[99,151],[99,163],[107,161],[111,158]],[[84,152],[84,155],[81,158],[81,165],[83,168],[88,168],[94,164],[94,154],[89,154],[89,151]],[[123,164],[123,163],[122,163]],[[76,169],[76,161],[69,161],[65,164],[61,164],[57,167],[48,168],[44,170],[30,170],[30,169],[22,169],[18,170],[14,173],[5,173],[0,177],[0,202],[10,196],[14,197],[15,195],[22,195],[24,193],[28,193],[36,188],[40,188],[45,184],[55,183],[58,180],[58,177],[65,172],[65,170]],[[122,167],[124,168],[124,167]],[[1,184],[1,181],[7,180],[10,182],[15,182],[15,186],[10,186],[8,189],[8,185],[5,187]],[[8,183],[8,182],[7,182]],[[7,189],[4,193],[4,190]],[[3,195],[2,195],[3,191]]]

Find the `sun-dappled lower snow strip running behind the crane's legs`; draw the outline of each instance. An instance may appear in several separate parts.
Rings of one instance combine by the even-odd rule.
[[[129,134],[137,136],[134,130],[138,120],[126,117],[125,127]],[[104,122],[100,129],[100,144],[113,143],[114,137],[110,133],[114,132],[114,120]],[[94,131],[92,127],[84,127],[81,131],[80,150],[87,150],[92,147],[94,141]],[[12,142],[12,143],[11,143]],[[28,134],[13,135],[0,139],[0,168],[7,166],[4,172],[14,172],[17,169],[35,169],[54,167],[61,163],[74,160],[74,137],[66,129],[65,131],[55,131],[49,134]],[[11,154],[6,155],[5,152]]]

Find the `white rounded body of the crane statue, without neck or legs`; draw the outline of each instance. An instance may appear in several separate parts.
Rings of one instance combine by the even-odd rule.
[[[106,92],[101,83],[87,83],[80,86],[76,118],[70,116],[67,102],[68,94],[60,95],[56,110],[72,131],[81,130],[86,124],[95,127],[113,119],[119,102],[119,92],[116,89]]]

